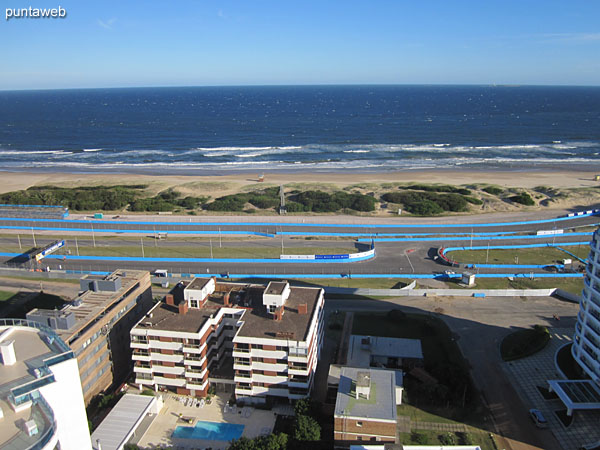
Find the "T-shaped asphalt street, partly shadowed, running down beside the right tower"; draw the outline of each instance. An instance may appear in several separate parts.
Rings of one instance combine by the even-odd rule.
[[[501,448],[513,450],[559,450],[548,430],[538,430],[530,421],[529,405],[523,404],[500,365],[499,343],[512,329],[534,324],[555,326],[553,314],[561,317],[561,327],[574,327],[578,305],[554,298],[399,298],[390,300],[327,300],[328,310],[388,310],[401,306],[410,312],[433,312],[456,333],[459,346],[471,365],[473,379],[483,393],[504,438]]]

